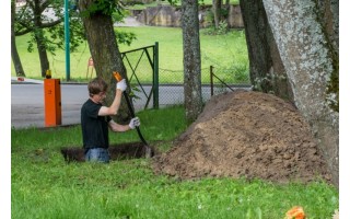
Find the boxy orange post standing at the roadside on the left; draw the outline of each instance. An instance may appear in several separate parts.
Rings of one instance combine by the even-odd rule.
[[[45,126],[62,124],[61,88],[59,79],[44,79]]]

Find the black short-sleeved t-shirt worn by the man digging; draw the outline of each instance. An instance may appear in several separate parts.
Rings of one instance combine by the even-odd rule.
[[[102,104],[88,100],[81,107],[81,130],[84,149],[108,148],[108,122],[110,116],[98,116]]]

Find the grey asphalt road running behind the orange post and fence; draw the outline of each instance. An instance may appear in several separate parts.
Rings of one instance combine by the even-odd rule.
[[[151,87],[143,87],[136,95],[136,112],[144,108],[147,95]],[[247,88],[244,88],[247,89]],[[80,107],[89,99],[86,84],[61,84],[61,119],[62,126],[80,124]],[[222,90],[222,89],[221,89]],[[210,88],[202,87],[203,101],[210,99]],[[182,85],[161,85],[159,89],[160,107],[184,103]],[[12,83],[11,84],[11,127],[26,128],[31,126],[45,127],[43,83]],[[148,108],[152,107],[151,99]]]

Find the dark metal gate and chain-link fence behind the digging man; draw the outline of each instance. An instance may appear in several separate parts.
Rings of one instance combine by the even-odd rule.
[[[184,71],[158,67],[158,43],[121,54],[131,84],[133,106],[137,111],[166,107],[184,103]],[[249,89],[246,72],[240,69],[201,69],[202,100],[235,89]],[[237,83],[233,83],[233,82]]]

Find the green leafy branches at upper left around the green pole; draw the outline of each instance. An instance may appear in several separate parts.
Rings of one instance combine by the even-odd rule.
[[[55,55],[57,49],[65,49],[63,1],[27,0],[15,13],[15,35],[31,34],[27,50],[34,50],[37,35],[45,31],[43,43],[47,51]],[[74,51],[85,41],[85,34],[77,11],[69,10],[70,49]]]

